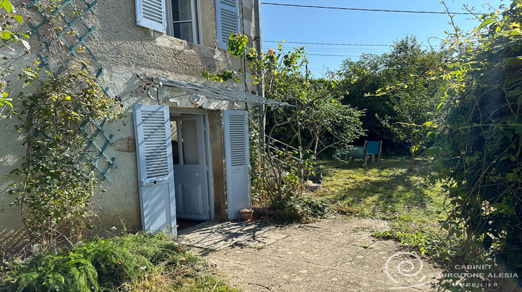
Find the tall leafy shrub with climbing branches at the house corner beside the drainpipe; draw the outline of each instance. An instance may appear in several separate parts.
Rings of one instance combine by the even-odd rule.
[[[301,196],[303,178],[317,155],[346,145],[363,133],[358,119],[362,112],[340,103],[342,95],[335,90],[342,86],[335,81],[310,79],[304,47],[285,53],[280,43],[277,50],[269,49],[267,54],[255,49],[246,53],[246,41],[239,33],[231,34],[229,51],[248,60],[253,85],[261,85],[265,97],[290,104],[267,108],[262,113],[251,111],[253,201],[258,206],[282,209],[290,217],[303,218],[311,209],[319,208],[317,202]],[[203,76],[214,81],[238,79],[237,72],[228,70],[219,74],[203,72]],[[267,121],[267,145],[258,131],[259,120]]]

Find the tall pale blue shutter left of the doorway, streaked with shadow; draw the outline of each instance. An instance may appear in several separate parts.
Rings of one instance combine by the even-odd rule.
[[[134,132],[141,224],[149,232],[176,235],[176,207],[168,106],[135,104]]]

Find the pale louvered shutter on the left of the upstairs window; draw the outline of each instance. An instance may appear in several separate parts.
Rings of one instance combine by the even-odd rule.
[[[165,0],[136,0],[136,24],[166,33]]]

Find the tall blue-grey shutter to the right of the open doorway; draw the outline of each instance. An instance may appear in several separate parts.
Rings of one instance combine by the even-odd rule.
[[[239,210],[250,208],[250,156],[248,152],[248,112],[223,111],[227,177],[227,211],[230,220]]]

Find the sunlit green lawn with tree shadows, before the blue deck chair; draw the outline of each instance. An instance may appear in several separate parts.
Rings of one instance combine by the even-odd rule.
[[[445,218],[441,188],[428,186],[423,179],[430,159],[416,159],[413,172],[406,172],[409,156],[385,156],[365,168],[361,160],[319,163],[324,167],[323,186],[313,196],[334,211],[389,220],[393,231],[440,233],[437,221]]]

